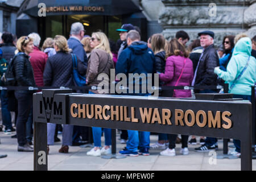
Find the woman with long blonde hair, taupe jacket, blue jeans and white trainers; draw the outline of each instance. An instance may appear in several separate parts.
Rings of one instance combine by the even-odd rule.
[[[93,49],[88,58],[86,82],[88,86],[98,86],[101,81],[97,80],[100,73],[105,73],[110,78],[110,69],[114,69],[113,56],[110,51],[109,40],[103,32],[94,32],[90,39],[90,47]],[[108,79],[104,78],[104,81]],[[109,80],[108,80],[109,81]],[[102,93],[104,90],[89,90],[90,94]],[[88,151],[87,155],[100,156],[111,154],[111,129],[104,129],[105,147],[101,147],[101,127],[92,127],[94,148]]]

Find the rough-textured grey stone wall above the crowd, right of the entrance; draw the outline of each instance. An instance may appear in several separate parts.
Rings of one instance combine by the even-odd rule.
[[[167,39],[173,38],[179,30],[188,32],[191,40],[197,38],[198,32],[211,30],[215,34],[214,44],[220,45],[225,35],[236,35],[249,28],[244,22],[245,10],[250,6],[249,0],[216,0],[213,4],[216,6],[209,6],[213,2],[211,0],[162,2],[166,8],[159,13],[158,21]],[[251,18],[255,19],[255,16]]]

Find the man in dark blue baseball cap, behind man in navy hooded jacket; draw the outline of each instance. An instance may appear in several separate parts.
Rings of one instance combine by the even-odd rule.
[[[119,57],[123,49],[127,48],[126,36],[130,30],[135,30],[134,26],[130,23],[123,24],[121,28],[116,30],[119,32],[120,39],[122,40],[122,44],[121,44],[121,47],[119,48],[117,58]]]

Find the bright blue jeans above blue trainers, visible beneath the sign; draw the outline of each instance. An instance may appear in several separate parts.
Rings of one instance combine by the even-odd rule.
[[[126,143],[127,150],[137,152],[138,147],[150,148],[150,132],[149,131],[128,131],[128,141]]]

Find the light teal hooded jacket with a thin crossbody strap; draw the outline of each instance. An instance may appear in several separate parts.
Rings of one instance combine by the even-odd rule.
[[[236,80],[249,59],[249,65],[243,72],[242,76]],[[256,60],[251,56],[251,40],[250,38],[241,38],[234,47],[233,55],[227,65],[226,72],[220,68],[214,68],[220,78],[229,83],[229,93],[240,95],[251,95],[251,86],[256,82]],[[230,86],[235,83],[230,90]]]

